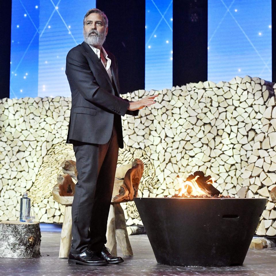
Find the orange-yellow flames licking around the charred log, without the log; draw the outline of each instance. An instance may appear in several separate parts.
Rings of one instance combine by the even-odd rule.
[[[179,176],[177,176],[177,180],[180,185],[179,189],[179,194],[178,196],[186,196],[186,197],[191,197],[191,196],[209,196],[208,193],[205,193],[198,187],[198,183],[196,183],[196,180],[198,179],[199,175],[197,175],[195,178],[193,178],[191,181],[183,181],[183,179]],[[214,183],[213,178],[211,177],[208,179],[207,182],[212,181]],[[191,192],[188,192],[188,188],[191,188]]]

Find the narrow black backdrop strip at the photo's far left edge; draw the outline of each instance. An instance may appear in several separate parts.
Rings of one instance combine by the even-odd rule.
[[[0,12],[0,98],[9,98],[11,58],[11,1],[1,1]]]

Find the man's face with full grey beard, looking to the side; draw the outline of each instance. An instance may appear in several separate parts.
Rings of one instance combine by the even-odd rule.
[[[84,41],[92,46],[101,46],[106,40],[108,27],[100,14],[92,13],[87,16],[83,26]]]

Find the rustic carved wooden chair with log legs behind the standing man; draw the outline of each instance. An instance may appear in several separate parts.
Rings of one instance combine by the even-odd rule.
[[[68,258],[72,242],[72,203],[75,191],[75,183],[72,178],[77,180],[78,172],[76,170],[76,162],[73,160],[63,161],[61,167],[64,174],[57,176],[58,183],[53,187],[52,195],[56,202],[65,205],[59,258]],[[132,201],[133,198],[137,197],[143,169],[143,162],[139,159],[135,159],[134,162],[116,169],[106,231],[106,247],[111,250],[113,256],[117,256],[116,237],[122,248],[123,255],[133,256],[124,210],[120,203]]]

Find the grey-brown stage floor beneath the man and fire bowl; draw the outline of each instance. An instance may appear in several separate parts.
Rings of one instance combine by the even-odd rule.
[[[267,276],[275,275],[276,248],[249,249],[243,266],[203,268],[170,267],[156,263],[147,235],[130,236],[133,257],[124,257],[122,264],[107,266],[68,265],[67,259],[59,259],[60,233],[41,233],[41,258],[14,259],[0,258],[1,276],[59,276],[59,275],[99,275],[99,276],[173,276],[173,275],[212,275],[212,276]],[[203,243],[203,241],[202,241]],[[118,250],[120,256],[120,249]]]

